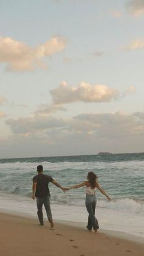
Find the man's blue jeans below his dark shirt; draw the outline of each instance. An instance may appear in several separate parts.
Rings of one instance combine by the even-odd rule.
[[[46,209],[46,215],[48,216],[48,220],[52,220],[52,214],[51,214],[51,206],[50,206],[50,197],[37,197],[37,215],[38,220],[40,221],[40,225],[43,225],[43,204]]]

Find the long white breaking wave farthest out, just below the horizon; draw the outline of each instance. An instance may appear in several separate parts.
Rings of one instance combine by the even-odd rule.
[[[134,169],[135,171],[143,170],[144,168],[144,161],[122,161],[122,162],[98,162],[98,161],[63,161],[63,162],[54,162],[51,163],[49,161],[39,162],[12,162],[12,163],[0,163],[0,169],[3,169],[5,172],[12,173],[12,171],[19,172],[29,172],[29,171],[36,171],[38,165],[43,165],[43,169],[45,171],[62,171],[66,169],[74,169],[74,170],[93,170],[93,171],[129,171]]]

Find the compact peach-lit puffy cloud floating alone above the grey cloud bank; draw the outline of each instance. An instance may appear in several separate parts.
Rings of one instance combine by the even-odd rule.
[[[83,101],[86,103],[108,102],[117,99],[119,93],[107,85],[90,85],[82,82],[79,87],[70,87],[67,82],[50,91],[54,104],[66,104]]]

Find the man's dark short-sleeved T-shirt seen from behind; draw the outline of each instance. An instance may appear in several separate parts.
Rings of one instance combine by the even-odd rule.
[[[50,196],[48,184],[52,182],[53,179],[51,176],[45,174],[38,174],[33,178],[33,182],[37,182],[35,196],[45,197]]]

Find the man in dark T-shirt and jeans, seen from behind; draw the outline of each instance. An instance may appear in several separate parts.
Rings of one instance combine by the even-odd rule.
[[[50,206],[50,193],[48,184],[51,182],[52,184],[56,185],[57,187],[61,188],[63,192],[66,191],[65,188],[59,185],[56,180],[52,179],[51,176],[43,174],[43,166],[37,166],[38,175],[33,178],[33,185],[32,185],[32,199],[34,200],[35,197],[37,198],[37,215],[40,221],[40,225],[43,226],[43,211],[42,206],[44,204],[46,209],[46,214],[48,216],[48,220],[51,225],[51,229],[54,227],[54,223],[52,220],[51,214],[51,206]]]

